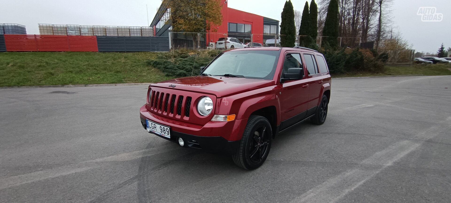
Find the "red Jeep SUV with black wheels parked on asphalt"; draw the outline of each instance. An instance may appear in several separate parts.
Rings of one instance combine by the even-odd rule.
[[[219,54],[201,74],[153,83],[141,124],[182,147],[228,152],[260,167],[277,134],[326,121],[331,76],[316,50],[256,47]]]

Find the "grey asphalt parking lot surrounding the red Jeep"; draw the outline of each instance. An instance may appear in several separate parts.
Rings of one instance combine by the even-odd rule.
[[[451,77],[333,79],[262,167],[147,133],[147,86],[0,89],[0,202],[451,201]]]

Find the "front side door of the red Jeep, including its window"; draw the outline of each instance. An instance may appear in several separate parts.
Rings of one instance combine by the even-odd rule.
[[[287,72],[288,68],[303,68],[300,53],[285,54],[281,77]],[[281,86],[279,96],[282,122],[280,130],[283,130],[304,119],[307,113],[309,87],[304,78],[301,80],[285,81]]]

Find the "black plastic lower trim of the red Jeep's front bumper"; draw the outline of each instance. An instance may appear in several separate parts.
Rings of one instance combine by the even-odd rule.
[[[146,120],[141,118],[141,125],[143,125],[143,128],[147,130],[146,128]],[[151,132],[152,133],[152,132]],[[164,138],[166,140],[170,140],[173,142],[178,143],[179,137],[185,140],[187,143],[186,145],[191,148],[197,148],[197,149],[204,149],[211,152],[224,152],[224,153],[235,153],[236,150],[239,147],[239,141],[229,141],[221,136],[197,136],[197,135],[190,135],[182,132],[177,131],[171,131],[171,138],[167,138],[161,135],[157,135],[155,133],[152,133],[154,135],[157,135],[161,138]]]

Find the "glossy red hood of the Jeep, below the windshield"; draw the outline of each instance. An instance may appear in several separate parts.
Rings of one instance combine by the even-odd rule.
[[[191,76],[156,82],[150,86],[207,93],[216,95],[216,97],[224,97],[272,85],[275,85],[275,82],[272,80],[224,76]]]

